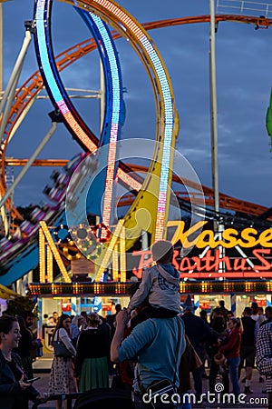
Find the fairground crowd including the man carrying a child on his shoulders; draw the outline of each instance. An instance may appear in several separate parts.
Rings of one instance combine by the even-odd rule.
[[[108,319],[96,313],[52,315],[48,394],[109,388],[111,374],[112,387],[122,388],[136,409],[190,409],[189,391],[194,390],[196,402],[201,402],[205,377],[210,393],[220,375],[224,393],[235,400],[241,384],[243,393],[252,394],[257,364],[272,409],[272,307],[264,312],[252,303],[238,317],[220,301],[209,316],[205,310],[197,315],[188,295],[181,310],[173,246],[160,240],[151,250],[156,264],[143,272],[141,283],[131,284],[127,308],[116,305]],[[29,400],[41,398],[31,381],[33,319],[31,312],[0,317],[0,405],[6,409],[26,409]],[[56,401],[56,408],[61,407]]]

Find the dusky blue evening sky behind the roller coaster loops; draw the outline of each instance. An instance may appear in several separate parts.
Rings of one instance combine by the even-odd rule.
[[[209,14],[209,0],[122,0],[119,2],[140,22]],[[24,38],[24,20],[33,17],[34,1],[14,0],[4,9],[5,85]],[[221,11],[221,10],[220,10]],[[177,149],[211,186],[209,117],[209,25],[182,25],[150,32],[170,74],[180,115]],[[217,91],[219,111],[219,190],[259,205],[272,205],[272,154],[266,131],[266,112],[272,85],[272,28],[255,30],[253,25],[223,22],[216,36]],[[87,38],[89,32],[73,7],[53,5],[55,55]],[[123,39],[117,48],[126,104],[122,138],[155,135],[155,104],[151,85],[141,61]],[[63,71],[67,87],[98,89],[98,54],[93,52]],[[25,57],[19,85],[37,70],[34,42]],[[45,95],[45,93],[44,93]],[[84,120],[97,133],[97,100],[73,100]],[[36,101],[19,128],[7,155],[27,158],[50,128],[49,100]],[[41,158],[71,158],[81,151],[63,125],[58,126]],[[33,168],[15,192],[16,205],[45,200],[42,191],[53,169]],[[17,171],[17,170],[15,170]]]

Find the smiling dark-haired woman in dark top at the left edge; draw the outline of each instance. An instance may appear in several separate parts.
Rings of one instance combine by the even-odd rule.
[[[38,391],[26,383],[27,377],[19,355],[12,352],[21,338],[20,326],[14,316],[0,317],[0,407],[27,409],[28,400],[34,401]]]

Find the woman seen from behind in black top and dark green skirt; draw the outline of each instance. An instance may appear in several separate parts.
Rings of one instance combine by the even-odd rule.
[[[80,392],[109,387],[110,328],[100,328],[100,318],[96,313],[87,315],[87,324],[78,338],[75,361]]]

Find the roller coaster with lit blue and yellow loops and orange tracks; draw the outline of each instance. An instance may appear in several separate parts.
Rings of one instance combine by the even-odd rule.
[[[208,220],[217,220],[227,226],[235,223],[245,227],[254,222],[257,229],[270,228],[272,213],[267,207],[220,194],[219,208],[237,212],[239,215],[228,214],[221,210],[215,211],[213,210],[214,194],[211,188],[201,186],[195,181],[184,180],[184,178],[181,180],[178,175],[172,173],[174,147],[179,133],[179,115],[175,106],[170,76],[148,31],[165,26],[209,23],[210,15],[175,18],[140,25],[120,5],[109,0],[63,0],[63,2],[73,5],[91,31],[92,38],[55,56],[51,38],[53,2],[35,0],[33,21],[26,24],[25,43],[22,49],[22,59],[21,61],[18,59],[18,72],[11,77],[0,105],[2,114],[0,127],[2,136],[0,283],[12,284],[37,266],[41,222],[56,226],[55,233],[62,244],[67,243],[68,233],[72,235],[73,244],[76,244],[75,237],[78,237],[79,233],[75,224],[80,225],[80,229],[83,229],[84,226],[86,234],[90,234],[89,245],[91,246],[93,237],[97,245],[102,245],[99,255],[101,261],[98,264],[102,264],[103,258],[106,257],[112,237],[118,235],[118,228],[120,228],[119,232],[121,228],[125,229],[126,251],[129,251],[132,245],[139,240],[142,232],[150,235],[151,243],[166,238],[172,201],[180,209],[195,212],[201,217],[204,217],[206,206]],[[217,24],[220,21],[235,21],[255,25],[257,28],[268,28],[272,25],[272,20],[265,16],[216,15],[215,21]],[[111,31],[109,26],[115,31]],[[32,35],[34,35],[39,71],[36,71],[24,82],[24,85],[16,90],[18,73]],[[118,141],[125,115],[121,65],[115,45],[115,40],[120,36],[128,39],[139,55],[153,89],[157,126],[156,143],[149,168],[143,165],[131,165],[130,162],[122,161],[119,156]],[[96,48],[100,53],[104,77],[104,112],[101,135],[94,135],[92,129],[84,123],[60,76],[63,69]],[[44,86],[53,104],[52,127],[29,160],[8,158],[6,149],[11,138]],[[74,156],[70,161],[55,160],[53,164],[51,163],[56,166],[62,165],[63,168],[53,173],[53,186],[44,187],[44,194],[49,199],[48,204],[43,207],[34,206],[27,219],[24,219],[24,216],[13,205],[12,194],[31,165],[48,165],[46,160],[36,158],[53,135],[58,123],[63,123],[67,127],[76,142],[83,148],[83,153]],[[8,165],[24,166],[23,171],[10,187],[6,185],[5,175]],[[96,172],[97,168],[99,175]],[[82,220],[78,215],[80,212],[76,211],[77,206],[80,205],[83,190],[89,187],[90,175],[96,177],[96,181],[93,182],[96,195],[95,200],[92,197],[87,199],[88,211],[100,217],[100,223],[93,225],[91,232],[86,226],[86,219]],[[172,182],[185,187],[180,187],[173,193],[170,191]],[[114,220],[116,199],[114,186],[117,183],[124,186],[127,192],[126,195],[121,196],[118,205],[129,207],[121,218],[121,222]],[[142,211],[147,212],[149,216],[142,215],[137,218],[136,214],[143,214]],[[10,223],[11,220],[15,225]],[[117,225],[112,227],[112,224]],[[72,228],[63,227],[66,225]],[[68,233],[62,237],[60,229],[67,230]],[[97,252],[95,257],[97,257]],[[92,260],[95,257],[94,255],[92,257],[91,254],[89,259]],[[245,257],[247,258],[247,255]],[[107,264],[104,266],[107,267]],[[102,272],[100,273],[98,269],[94,281],[100,281],[101,276]]]

